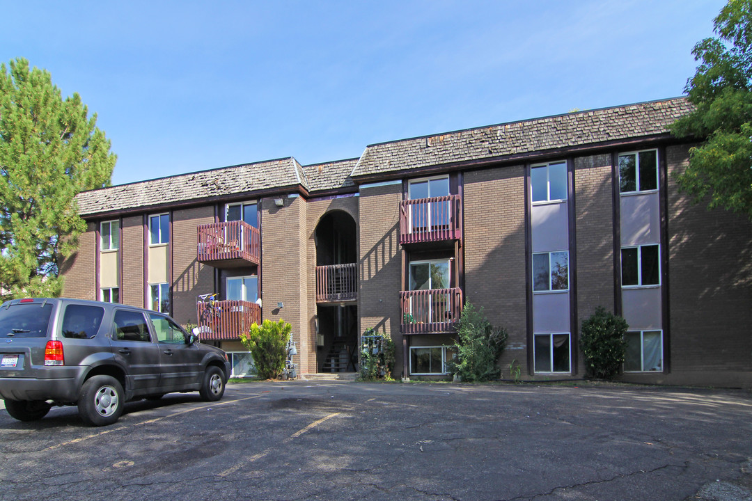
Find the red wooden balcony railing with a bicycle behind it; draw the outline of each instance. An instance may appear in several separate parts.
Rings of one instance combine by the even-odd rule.
[[[261,306],[238,300],[216,301],[219,312],[206,311],[208,304],[196,305],[199,318],[199,340],[238,340],[241,332],[247,332],[250,324],[261,323]]]

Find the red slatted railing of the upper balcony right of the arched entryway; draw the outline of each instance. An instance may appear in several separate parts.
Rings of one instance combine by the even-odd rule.
[[[462,198],[417,198],[399,204],[399,243],[441,242],[462,238]]]

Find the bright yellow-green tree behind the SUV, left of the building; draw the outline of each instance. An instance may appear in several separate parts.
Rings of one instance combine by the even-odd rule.
[[[74,197],[108,186],[116,159],[79,95],[26,59],[0,65],[0,298],[60,294],[86,229]]]

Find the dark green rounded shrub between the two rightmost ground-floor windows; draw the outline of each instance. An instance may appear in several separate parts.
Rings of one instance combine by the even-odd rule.
[[[626,320],[598,306],[582,321],[580,349],[588,377],[613,379],[624,363]]]

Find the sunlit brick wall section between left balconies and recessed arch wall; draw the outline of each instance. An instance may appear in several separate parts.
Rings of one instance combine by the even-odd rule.
[[[283,198],[284,207],[274,205],[274,198],[260,201],[262,245],[262,318],[293,325],[293,340],[298,355],[293,358],[298,372],[311,372],[308,352],[311,346],[312,317],[308,311],[306,202],[303,198]],[[283,309],[277,303],[284,303]],[[313,372],[316,372],[315,366]]]

